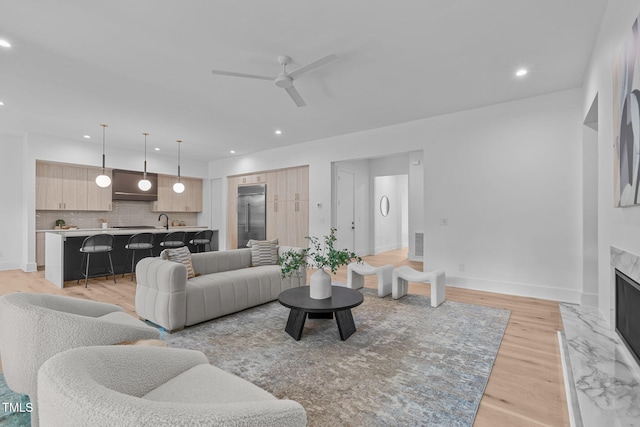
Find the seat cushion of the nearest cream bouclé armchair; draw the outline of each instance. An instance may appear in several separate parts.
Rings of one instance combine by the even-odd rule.
[[[276,400],[260,387],[208,364],[186,370],[142,398],[156,402],[192,404]]]

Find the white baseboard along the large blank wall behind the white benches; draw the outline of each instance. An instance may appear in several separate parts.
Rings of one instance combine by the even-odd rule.
[[[569,302],[572,304],[580,303],[581,292],[573,289],[558,289],[541,285],[496,282],[486,279],[449,275],[447,275],[446,280],[448,286],[453,286],[456,288],[474,289],[476,291],[495,292],[499,294],[517,295],[521,297],[548,299],[553,301]]]

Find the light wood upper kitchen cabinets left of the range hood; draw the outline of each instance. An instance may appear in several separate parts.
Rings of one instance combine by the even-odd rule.
[[[96,185],[102,169],[36,162],[36,209],[50,211],[109,211],[111,188]],[[111,171],[105,170],[108,175]]]

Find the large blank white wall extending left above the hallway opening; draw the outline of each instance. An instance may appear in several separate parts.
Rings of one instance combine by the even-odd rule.
[[[309,232],[322,235],[332,162],[422,150],[425,269],[444,269],[457,286],[578,302],[581,97],[574,89],[265,150],[211,162],[210,177],[308,164]]]

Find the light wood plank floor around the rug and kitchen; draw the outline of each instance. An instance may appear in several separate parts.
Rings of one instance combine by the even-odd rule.
[[[422,263],[406,259],[406,251],[391,251],[365,257],[371,265],[410,265],[422,270]],[[113,280],[91,279],[89,287],[75,282],[59,289],[44,279],[44,272],[20,270],[0,272],[0,294],[44,292],[104,301],[136,315],[135,283],[130,276]],[[346,268],[336,275],[346,283]],[[375,277],[367,287],[376,288]],[[430,295],[429,285],[411,284],[409,292]],[[474,426],[568,426],[560,350],[556,331],[563,329],[557,302],[447,287],[447,299],[468,304],[511,310],[502,344],[489,383],[480,403]],[[1,369],[1,367],[0,367]]]

